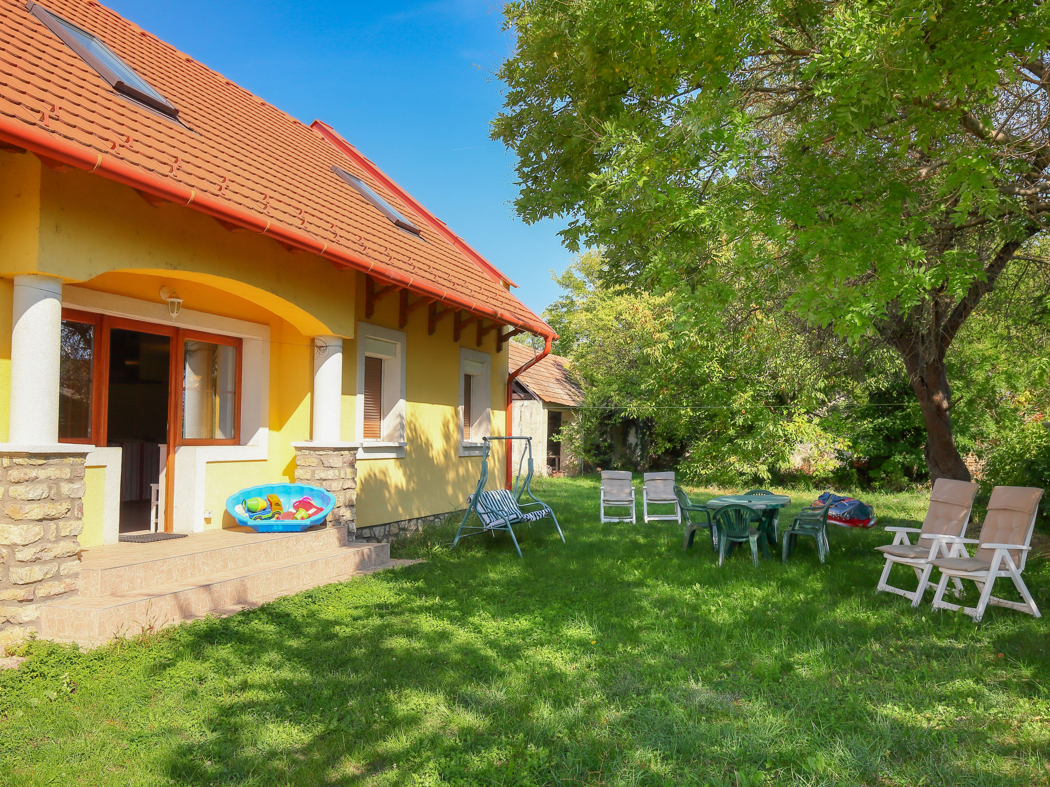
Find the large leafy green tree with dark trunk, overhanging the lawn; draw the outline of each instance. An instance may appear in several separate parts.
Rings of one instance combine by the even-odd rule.
[[[741,282],[903,361],[932,478],[968,478],[945,356],[1050,211],[1037,0],[521,0],[494,134],[519,213],[625,281]]]

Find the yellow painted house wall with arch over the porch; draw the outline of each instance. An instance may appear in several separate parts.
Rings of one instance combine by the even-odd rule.
[[[356,321],[364,321],[363,275],[338,271],[328,261],[290,253],[252,233],[230,233],[213,219],[176,206],[154,208],[132,189],[83,172],[57,174],[37,159],[0,153],[0,249],[21,249],[0,258],[0,325],[10,324],[12,283],[21,272],[48,273],[67,283],[159,302],[167,285],[184,309],[270,326],[268,458],[207,466],[206,527],[231,526],[226,498],[254,484],[294,478],[292,442],[309,440],[311,420],[311,337],[335,334],[343,343],[342,439],[355,439]],[[36,179],[35,179],[36,178]],[[39,209],[33,191],[39,185]],[[25,196],[16,196],[28,194]],[[6,201],[5,201],[6,200]],[[28,206],[24,208],[22,206]],[[35,211],[39,220],[34,225]],[[13,217],[13,218],[12,218]],[[26,231],[28,228],[28,231]],[[37,235],[34,249],[32,236]],[[27,239],[28,238],[28,239]],[[27,250],[27,251],[26,251]],[[36,258],[34,259],[34,255]],[[368,322],[398,328],[398,299],[384,298]],[[426,332],[426,311],[410,318],[406,332],[406,434],[402,460],[358,464],[359,527],[461,508],[477,483],[481,460],[459,456],[459,346],[495,353],[489,334],[477,346],[476,328],[452,340],[452,317]],[[9,329],[0,329],[0,435],[7,434]],[[506,352],[492,363],[492,434],[504,432]],[[490,463],[490,486],[503,482],[502,449]],[[104,469],[88,470],[85,545],[101,543]],[[177,480],[176,480],[177,483]]]

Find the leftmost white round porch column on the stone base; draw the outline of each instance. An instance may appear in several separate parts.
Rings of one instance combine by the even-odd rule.
[[[59,442],[62,279],[15,276],[10,336],[10,427],[18,445]]]

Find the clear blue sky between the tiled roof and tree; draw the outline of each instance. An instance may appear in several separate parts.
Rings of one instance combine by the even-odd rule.
[[[513,157],[488,139],[510,51],[484,0],[104,0],[303,123],[333,126],[518,282],[536,312],[570,255],[513,214]]]

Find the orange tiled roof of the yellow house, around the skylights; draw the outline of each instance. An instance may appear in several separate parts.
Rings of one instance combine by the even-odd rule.
[[[337,149],[320,130],[93,0],[42,5],[101,38],[175,105],[189,129],[111,90],[22,0],[0,0],[0,141],[320,254],[383,284],[552,333],[501,285],[506,277],[457,244],[450,230],[440,231],[443,222],[365,166],[368,159]],[[418,217],[420,237],[396,228],[333,165]]]

